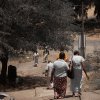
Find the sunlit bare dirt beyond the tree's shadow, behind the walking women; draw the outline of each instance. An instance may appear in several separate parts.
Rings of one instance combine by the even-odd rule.
[[[51,51],[49,55],[49,60],[54,61],[58,55],[58,51]],[[40,51],[41,53],[41,51]],[[43,56],[39,58],[38,67],[34,67],[34,61],[19,63],[18,64],[18,74],[21,76],[43,76],[44,69],[47,63],[43,63]]]

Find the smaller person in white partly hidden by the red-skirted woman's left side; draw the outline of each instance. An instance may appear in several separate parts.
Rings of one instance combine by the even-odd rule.
[[[51,86],[53,83],[50,84],[52,69],[53,69],[53,63],[49,60],[47,66],[45,68],[45,76],[47,77],[47,89],[53,88]]]

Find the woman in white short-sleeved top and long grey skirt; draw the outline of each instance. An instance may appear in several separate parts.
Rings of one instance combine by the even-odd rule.
[[[71,58],[71,63],[73,64],[74,78],[71,79],[71,91],[73,96],[81,95],[82,88],[82,70],[85,71],[84,61],[85,59],[79,55],[79,51],[74,51],[74,55]],[[88,76],[87,76],[88,78]]]

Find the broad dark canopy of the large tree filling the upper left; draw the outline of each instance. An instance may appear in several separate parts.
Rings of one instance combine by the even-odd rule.
[[[3,39],[14,49],[31,48],[34,43],[52,45],[56,38],[64,43],[66,38],[61,37],[65,31],[78,30],[73,24],[74,11],[69,0],[8,0],[0,13],[0,30],[10,33]],[[70,39],[67,33],[65,37]]]

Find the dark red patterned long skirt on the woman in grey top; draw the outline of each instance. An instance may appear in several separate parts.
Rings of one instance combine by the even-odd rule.
[[[54,92],[57,92],[58,96],[64,97],[67,88],[67,77],[55,77],[54,78]]]

